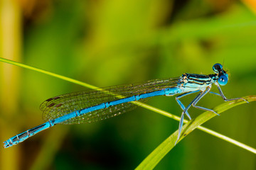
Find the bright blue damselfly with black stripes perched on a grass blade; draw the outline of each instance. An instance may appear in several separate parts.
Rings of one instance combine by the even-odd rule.
[[[181,94],[176,96],[176,101],[183,110],[178,126],[177,142],[181,135],[184,114],[191,119],[188,114],[188,108],[193,106],[215,113],[209,108],[196,106],[196,103],[206,94],[216,94],[221,96],[224,101],[244,100],[243,98],[228,99],[224,96],[220,85],[224,86],[228,83],[228,74],[223,70],[221,64],[214,64],[213,72],[215,74],[183,74],[181,77],[176,78],[154,79],[137,84],[110,86],[100,90],[80,91],[49,98],[40,106],[41,111],[43,111],[43,120],[46,123],[11,137],[4,142],[4,147],[11,147],[23,142],[28,137],[57,124],[71,125],[105,120],[136,108],[138,105],[134,104],[134,101],[146,102],[153,96]],[[220,94],[210,92],[212,84],[218,87]],[[179,100],[183,96],[196,92],[198,92],[198,95],[186,107]],[[218,115],[218,113],[215,114]]]

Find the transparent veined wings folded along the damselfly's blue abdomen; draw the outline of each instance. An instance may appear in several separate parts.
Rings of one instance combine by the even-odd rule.
[[[63,94],[44,101],[40,109],[43,111],[43,120],[49,121],[59,118],[73,111],[97,106],[101,103],[116,101],[121,98],[136,96],[139,94],[159,91],[161,89],[176,86],[180,77],[172,79],[154,79],[136,84],[124,84],[102,88],[102,91],[88,90],[70,94]],[[108,92],[107,92],[108,91]],[[114,95],[113,95],[114,94]],[[140,102],[146,102],[149,98],[143,98]],[[121,103],[97,111],[92,111],[76,118],[65,120],[63,124],[91,123],[98,120],[112,118],[126,111],[131,111],[137,105],[133,103]]]

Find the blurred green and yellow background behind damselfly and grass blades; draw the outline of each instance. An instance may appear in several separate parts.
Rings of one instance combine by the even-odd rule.
[[[181,74],[212,74],[219,62],[228,98],[256,92],[256,4],[253,0],[1,0],[1,57],[112,86]],[[47,98],[85,87],[0,63],[0,141],[43,123]],[[213,88],[213,91],[216,91]],[[194,96],[183,98],[189,103]],[[200,106],[223,103],[208,95]],[[151,106],[176,115],[168,97]],[[204,126],[256,147],[256,105],[223,113]],[[195,118],[202,111],[191,108]],[[134,169],[178,128],[144,108],[98,123],[56,125],[0,149],[0,169]],[[255,154],[195,130],[156,169],[256,169]]]

